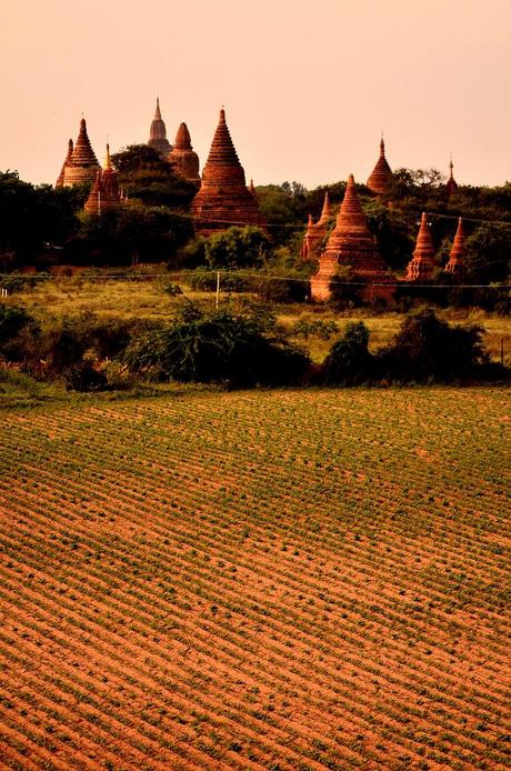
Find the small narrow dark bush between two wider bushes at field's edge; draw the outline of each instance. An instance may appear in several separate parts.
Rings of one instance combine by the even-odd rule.
[[[344,334],[333,343],[322,366],[325,383],[358,386],[374,374],[374,358],[369,352],[369,329],[362,321],[347,324]]]

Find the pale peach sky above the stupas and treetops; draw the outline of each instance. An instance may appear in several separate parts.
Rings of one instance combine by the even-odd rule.
[[[0,170],[57,179],[80,118],[98,156],[146,142],[159,94],[204,163],[219,109],[247,179],[392,168],[511,179],[511,0],[0,0]]]

